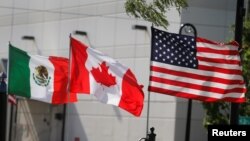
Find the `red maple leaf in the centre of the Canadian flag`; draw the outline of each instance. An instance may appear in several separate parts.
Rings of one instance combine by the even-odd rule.
[[[100,69],[99,67],[92,67],[91,73],[94,76],[96,82],[110,87],[112,85],[115,85],[116,81],[115,77],[112,76],[112,74],[109,74],[108,69],[109,67],[106,65],[106,62],[102,62],[102,64],[100,65]]]

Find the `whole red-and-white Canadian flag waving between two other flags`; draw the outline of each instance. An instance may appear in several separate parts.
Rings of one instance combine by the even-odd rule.
[[[144,93],[131,70],[72,37],[70,44],[70,91],[93,94],[103,103],[140,116]]]

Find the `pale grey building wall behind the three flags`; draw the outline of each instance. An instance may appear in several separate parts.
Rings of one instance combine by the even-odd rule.
[[[125,13],[124,2],[125,0],[0,1],[1,57],[8,57],[9,41],[30,53],[36,54],[39,49],[42,55],[68,57],[71,33],[130,67],[138,81],[144,85],[145,102],[141,117],[134,117],[122,109],[102,104],[94,97],[80,95],[79,102],[68,104],[67,107],[65,141],[75,141],[77,138],[80,141],[136,141],[146,135],[151,23],[130,18]],[[197,27],[199,36],[217,41],[226,41],[232,37],[228,29],[234,24],[233,7],[236,2],[189,2],[190,7],[183,10],[181,15],[175,8],[167,13],[169,32],[178,33],[180,25],[189,22]],[[132,26],[135,24],[146,25],[148,32],[133,30]],[[86,31],[88,38],[74,35],[75,30]],[[22,40],[23,35],[34,36],[35,43]],[[22,111],[19,112],[19,115],[23,114]],[[149,127],[155,127],[157,141],[183,141],[186,114],[186,99],[151,93]],[[193,101],[190,140],[207,140],[206,130],[202,126],[203,116],[201,103]],[[24,120],[19,119],[18,122],[22,121],[24,124]],[[21,137],[27,141],[30,138],[29,135]]]

